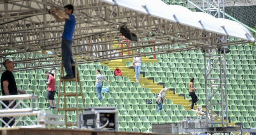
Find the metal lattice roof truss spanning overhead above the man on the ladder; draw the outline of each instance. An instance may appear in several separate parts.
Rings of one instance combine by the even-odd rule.
[[[100,0],[69,2],[75,6],[77,20],[72,51],[80,63],[133,57],[133,53],[123,56],[120,53],[153,46],[158,51],[140,52],[139,55],[214,49],[249,42],[227,42],[227,35],[173,23]],[[67,4],[62,0],[0,0],[1,62],[12,58],[21,65],[16,66],[19,71],[59,66],[64,22],[57,22],[48,14],[48,9],[63,10]],[[150,43],[145,40],[125,42],[130,43],[130,47],[125,46],[120,52],[120,43],[126,40],[120,38],[122,25],[140,39],[148,37]],[[114,44],[118,44],[118,48],[113,48]],[[45,64],[47,61],[52,64]]]

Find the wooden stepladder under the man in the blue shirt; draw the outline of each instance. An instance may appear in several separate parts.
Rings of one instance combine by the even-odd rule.
[[[63,64],[61,63],[61,78],[60,78],[60,82],[59,82],[59,93],[58,93],[58,100],[57,100],[57,115],[59,115],[59,111],[64,111],[65,112],[65,125],[66,128],[67,127],[71,127],[71,126],[76,126],[78,127],[78,111],[83,111],[83,109],[85,108],[85,100],[83,98],[83,92],[82,92],[82,87],[80,84],[80,76],[79,76],[79,72],[78,72],[78,67],[76,62],[71,64],[72,67],[75,68],[75,78],[72,79],[62,79],[62,77],[64,76],[64,69],[63,69]],[[68,89],[66,90],[65,88],[65,82],[66,81],[75,81],[76,83],[76,90],[75,91],[69,91]],[[63,89],[61,88],[61,84],[63,82]],[[79,86],[78,86],[79,85]],[[78,91],[78,87],[80,87],[80,91]],[[79,106],[78,104],[78,96],[81,96],[82,98],[82,104],[83,106]],[[64,99],[64,104],[62,105],[62,108],[60,106],[60,98],[63,97],[62,99]],[[76,99],[76,103],[74,105],[74,103],[72,104],[73,106],[68,106],[67,104],[67,98],[68,97],[74,97]],[[68,111],[75,111],[76,114],[76,121],[71,121],[69,122],[68,117]],[[71,118],[70,118],[71,119]]]

